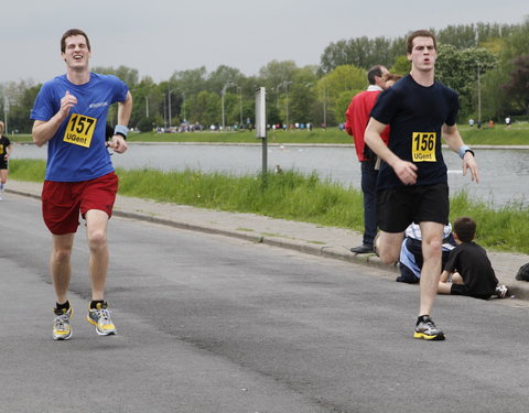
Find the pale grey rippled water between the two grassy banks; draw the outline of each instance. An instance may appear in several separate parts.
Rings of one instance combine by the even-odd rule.
[[[46,148],[33,144],[18,144],[13,159],[45,159]],[[481,183],[463,176],[460,157],[444,151],[449,167],[451,193],[461,189],[474,198],[481,198],[495,206],[509,202],[529,205],[529,151],[528,150],[477,150]],[[209,144],[141,144],[131,143],[127,153],[112,156],[117,167],[202,170],[233,174],[253,174],[261,171],[262,149],[260,145],[209,145]],[[316,172],[322,178],[330,178],[355,188],[360,186],[360,166],[353,146],[278,146],[268,148],[268,167],[294,169],[301,173]]]

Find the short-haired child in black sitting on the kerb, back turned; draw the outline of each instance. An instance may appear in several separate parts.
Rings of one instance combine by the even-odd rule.
[[[455,247],[449,256],[439,282],[439,294],[467,295],[487,300],[505,298],[507,286],[499,284],[485,249],[475,243],[476,222],[469,217],[454,222]],[[450,282],[452,275],[452,282]]]

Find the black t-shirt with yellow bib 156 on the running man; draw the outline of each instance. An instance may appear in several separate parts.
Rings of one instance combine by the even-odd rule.
[[[435,81],[424,87],[408,75],[379,95],[371,117],[390,126],[388,148],[418,166],[417,185],[447,183],[441,151],[441,128],[455,124],[457,94]],[[404,186],[391,166],[382,163],[378,189]]]

